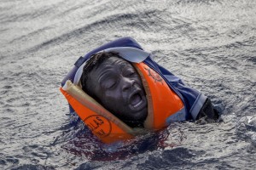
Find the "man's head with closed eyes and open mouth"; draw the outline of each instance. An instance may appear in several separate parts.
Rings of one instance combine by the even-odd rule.
[[[119,54],[93,55],[81,77],[84,92],[131,127],[143,126],[148,103],[136,69]]]

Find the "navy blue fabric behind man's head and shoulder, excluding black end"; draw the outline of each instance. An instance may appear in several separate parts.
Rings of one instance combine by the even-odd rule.
[[[119,38],[113,42],[108,42],[107,44],[102,45],[99,48],[96,48],[90,51],[88,54],[85,54],[84,57],[80,57],[74,64],[72,71],[69,71],[67,76],[62,80],[61,86],[63,87],[65,82],[69,79],[73,82],[74,76],[78,71],[80,65],[83,65],[84,62],[90,58],[92,54],[96,54],[107,48],[118,48],[118,47],[131,47],[138,48],[143,50],[143,48],[131,37],[123,37]],[[158,65],[154,62],[153,59],[148,57],[143,61],[149,67],[154,69],[154,71],[158,72],[159,75],[164,78],[166,83],[172,90],[183,100],[183,104],[185,106],[184,113],[182,117],[179,117],[177,121],[191,120],[196,119],[199,111],[201,111],[202,105],[205,103],[207,97],[201,94],[199,91],[194,88],[190,88],[186,86],[183,81],[174,76],[170,71],[167,71],[164,67]],[[168,101],[166,101],[168,102]],[[70,106],[70,105],[69,105]],[[70,106],[70,112],[73,112],[73,108]],[[172,120],[173,121],[173,120]]]

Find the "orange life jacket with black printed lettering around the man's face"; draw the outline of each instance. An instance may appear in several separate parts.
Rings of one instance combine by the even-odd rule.
[[[143,81],[143,87],[148,99],[148,116],[144,122],[145,129],[159,130],[168,126],[167,119],[183,110],[182,100],[168,87],[165,80],[141,63],[133,64]],[[132,139],[143,132],[142,129],[131,128],[119,120],[88,94],[67,81],[66,88],[60,88],[73,110],[104,143],[113,143],[119,140]]]

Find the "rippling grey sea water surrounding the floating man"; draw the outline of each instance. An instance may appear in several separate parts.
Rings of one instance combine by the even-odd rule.
[[[255,16],[253,0],[0,0],[0,169],[255,169]],[[126,36],[209,96],[223,122],[111,146],[71,123],[62,78]]]

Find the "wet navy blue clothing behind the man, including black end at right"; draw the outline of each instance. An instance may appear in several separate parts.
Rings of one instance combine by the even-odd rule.
[[[108,50],[109,48],[137,48],[143,51],[143,48],[131,37],[123,37],[113,42],[108,42],[107,44],[104,44],[101,47],[90,51],[88,54],[85,54],[84,57],[80,57],[75,63],[73,70],[70,71],[67,74],[67,77],[65,77],[61,82],[62,87],[68,79],[73,82],[75,73],[78,71],[79,67],[83,65],[86,60],[90,59],[90,56],[92,54],[96,54],[98,52],[101,52],[102,50]],[[143,53],[145,52],[143,51]],[[216,112],[214,112],[212,108],[211,101],[207,99],[204,94],[201,94],[201,92],[199,92],[198,90],[195,90],[194,88],[190,88],[189,86],[185,85],[179,77],[174,76],[172,72],[167,71],[164,67],[154,62],[151,54],[145,57],[143,63],[156,71],[158,75],[165,80],[169,88],[171,88],[172,91],[174,91],[183,101],[183,110],[178,112],[175,116],[170,116],[166,120],[167,123],[180,122],[185,120],[196,120],[198,118],[201,118],[201,116],[209,116],[214,119],[218,117],[216,115]],[[70,111],[73,112],[73,108],[71,107],[71,105]]]

